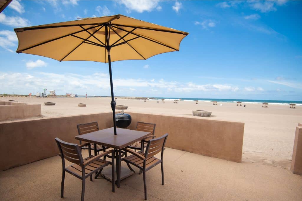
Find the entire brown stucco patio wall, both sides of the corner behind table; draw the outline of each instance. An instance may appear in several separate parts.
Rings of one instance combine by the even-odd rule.
[[[156,136],[169,133],[167,147],[241,161],[244,123],[130,113],[133,120],[156,123]],[[0,171],[59,153],[55,138],[78,143],[77,124],[97,121],[100,129],[113,126],[112,113],[98,113],[0,123]],[[3,143],[5,142],[5,143]]]

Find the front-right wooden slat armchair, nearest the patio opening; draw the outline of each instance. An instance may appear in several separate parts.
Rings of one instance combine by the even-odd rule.
[[[146,152],[134,152],[131,149],[124,148],[123,150],[126,152],[131,153],[132,155],[127,156],[123,158],[123,161],[125,161],[128,165],[128,167],[131,167],[129,164],[134,165],[135,167],[139,168],[140,171],[143,171],[143,180],[144,180],[144,190],[145,190],[145,200],[147,200],[147,188],[146,188],[146,171],[153,168],[157,164],[161,164],[162,169],[162,185],[164,185],[164,169],[162,164],[163,154],[164,154],[164,148],[165,143],[168,137],[168,133],[165,135],[148,140]],[[158,159],[154,157],[157,153],[161,153],[161,158]],[[133,171],[133,169],[131,168]]]

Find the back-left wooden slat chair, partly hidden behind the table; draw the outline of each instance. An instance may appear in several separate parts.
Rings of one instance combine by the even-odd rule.
[[[86,134],[89,132],[98,131],[98,122],[92,122],[92,123],[83,123],[76,125],[78,128],[79,135]],[[80,144],[82,144],[82,141],[80,140]],[[90,143],[90,146],[92,150],[94,151],[94,155],[96,156],[97,153],[99,154],[100,151],[106,151],[108,147],[102,146],[102,145],[96,145],[93,143]],[[88,149],[88,146],[83,146],[81,149]],[[104,157],[104,160],[106,160],[106,157]]]

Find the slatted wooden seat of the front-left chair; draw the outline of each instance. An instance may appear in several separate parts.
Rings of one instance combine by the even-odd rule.
[[[93,156],[84,158],[83,161],[86,162]],[[102,159],[97,159],[93,161],[92,163],[85,166],[85,178],[94,173],[95,171],[98,171],[98,169],[104,168],[105,166],[109,165],[109,161],[104,161]],[[82,167],[78,164],[71,164],[70,166],[66,167],[65,170],[71,174],[74,174],[75,176],[82,178]]]

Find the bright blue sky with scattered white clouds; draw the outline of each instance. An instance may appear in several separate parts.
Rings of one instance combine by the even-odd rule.
[[[13,1],[0,14],[0,94],[110,95],[108,64],[17,54],[13,28],[124,14],[186,31],[179,52],[112,62],[114,95],[302,100],[302,2]]]

